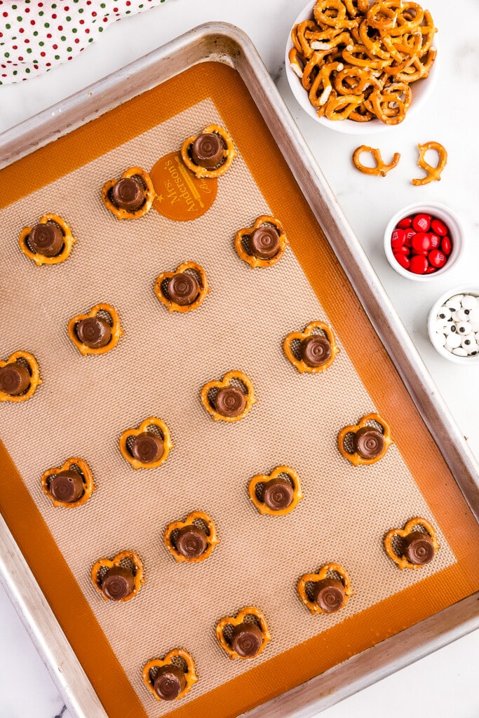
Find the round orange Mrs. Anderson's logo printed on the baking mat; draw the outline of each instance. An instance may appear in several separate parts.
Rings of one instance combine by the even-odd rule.
[[[218,180],[198,180],[183,164],[180,152],[159,159],[149,176],[157,193],[153,208],[169,220],[195,220],[208,212],[216,199]]]

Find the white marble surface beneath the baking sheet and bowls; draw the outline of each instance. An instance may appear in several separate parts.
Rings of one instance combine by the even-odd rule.
[[[373,138],[350,137],[325,129],[296,105],[284,75],[284,45],[304,0],[168,0],[147,13],[117,23],[80,57],[43,78],[0,89],[0,131],[93,83],[169,39],[211,20],[231,22],[253,39],[278,84],[299,129],[310,144],[341,207],[409,331],[419,353],[479,459],[478,367],[440,358],[429,344],[426,318],[437,297],[457,284],[479,289],[479,4],[431,0],[440,29],[441,70],[427,105],[395,131]],[[440,183],[412,187],[417,142],[441,141],[449,162]],[[387,157],[402,154],[399,168],[385,180],[364,177],[350,155],[358,144],[381,147]],[[443,278],[419,284],[397,275],[386,263],[382,234],[389,217],[409,202],[446,202],[465,225],[466,251],[460,264]],[[70,718],[8,597],[0,587],[0,718]],[[414,666],[328,709],[325,718],[346,716],[402,718],[406,712],[434,718],[479,715],[477,666],[479,631],[458,640]],[[19,666],[21,669],[19,670]]]

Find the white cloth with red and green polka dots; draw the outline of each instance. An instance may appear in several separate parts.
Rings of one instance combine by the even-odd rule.
[[[0,85],[42,75],[112,22],[165,0],[0,0]]]

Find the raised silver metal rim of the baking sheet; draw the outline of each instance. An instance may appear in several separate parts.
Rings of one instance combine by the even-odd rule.
[[[200,25],[0,134],[0,169],[188,67],[206,61],[223,62],[241,75],[374,329],[441,447],[457,485],[478,518],[478,464],[299,134],[261,57],[240,29],[226,23]],[[72,717],[108,718],[1,516],[0,580]],[[476,593],[244,715],[248,718],[307,718],[478,627],[479,593]]]

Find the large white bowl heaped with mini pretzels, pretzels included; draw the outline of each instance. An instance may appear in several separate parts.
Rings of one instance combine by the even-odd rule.
[[[286,48],[286,73],[304,111],[330,129],[374,134],[424,104],[437,78],[437,29],[404,0],[310,1]]]

